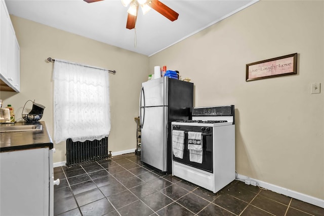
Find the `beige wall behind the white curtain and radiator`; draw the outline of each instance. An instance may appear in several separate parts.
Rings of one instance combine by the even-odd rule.
[[[136,122],[141,83],[147,80],[148,57],[26,19],[11,17],[20,46],[21,92],[1,92],[4,104],[12,104],[17,120],[27,100],[46,108],[46,122],[53,138],[53,63],[48,57],[116,70],[109,74],[111,131],[109,150],[135,149]],[[29,102],[30,103],[30,102]],[[19,119],[20,118],[20,119]],[[65,143],[55,144],[54,162],[65,161]]]

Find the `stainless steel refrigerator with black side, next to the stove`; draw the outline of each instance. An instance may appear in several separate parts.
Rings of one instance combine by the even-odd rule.
[[[171,122],[191,119],[193,83],[161,77],[142,83],[141,160],[172,172]]]

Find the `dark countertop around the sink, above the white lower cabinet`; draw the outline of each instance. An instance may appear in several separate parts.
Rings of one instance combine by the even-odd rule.
[[[0,152],[16,151],[33,148],[53,148],[53,141],[44,121],[16,122],[12,125],[42,124],[42,131],[2,132],[0,133]]]

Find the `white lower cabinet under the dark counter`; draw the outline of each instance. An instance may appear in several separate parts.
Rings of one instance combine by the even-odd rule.
[[[0,215],[53,215],[53,150],[0,154]]]

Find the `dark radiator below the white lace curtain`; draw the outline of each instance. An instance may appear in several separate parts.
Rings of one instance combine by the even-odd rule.
[[[101,140],[73,142],[66,140],[66,165],[108,158],[108,137]]]

